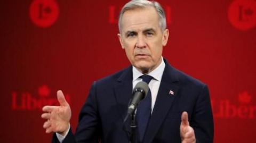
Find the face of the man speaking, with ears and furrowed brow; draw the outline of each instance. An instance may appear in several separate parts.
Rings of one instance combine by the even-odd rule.
[[[144,74],[157,68],[169,31],[159,27],[156,10],[147,7],[126,11],[121,24],[118,37],[131,64]]]

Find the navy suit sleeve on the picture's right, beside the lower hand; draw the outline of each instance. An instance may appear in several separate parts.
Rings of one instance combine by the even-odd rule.
[[[191,116],[191,127],[195,130],[196,142],[212,143],[214,136],[213,115],[209,89],[203,86]]]

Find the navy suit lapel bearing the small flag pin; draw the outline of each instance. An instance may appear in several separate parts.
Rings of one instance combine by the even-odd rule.
[[[179,86],[175,84],[175,82],[178,82],[178,78],[175,76],[175,70],[166,61],[165,63],[165,70],[158,90],[156,103],[143,142],[153,141],[178,93]]]

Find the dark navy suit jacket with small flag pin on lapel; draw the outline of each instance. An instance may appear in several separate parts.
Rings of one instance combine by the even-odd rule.
[[[181,142],[181,113],[188,112],[196,142],[213,142],[213,116],[207,86],[174,69],[166,60],[153,113],[143,142]],[[66,142],[128,143],[131,129],[123,123],[132,96],[132,66],[95,81],[79,114],[75,135]],[[170,94],[173,91],[173,95]],[[58,142],[54,133],[53,142]]]

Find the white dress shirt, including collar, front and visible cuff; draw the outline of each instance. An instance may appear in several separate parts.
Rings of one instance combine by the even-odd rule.
[[[157,97],[159,86],[163,77],[164,68],[165,68],[165,63],[162,57],[161,64],[158,65],[155,70],[147,74],[153,77],[153,79],[148,83],[148,87],[151,91],[151,113],[153,112],[153,108],[156,103],[156,97]],[[134,66],[132,66],[132,73],[133,73],[133,80],[132,80],[132,89],[133,89],[138,82],[142,81],[142,79],[139,77],[143,74],[140,71],[138,71]],[[70,130],[70,125],[69,125],[68,131],[69,130]],[[65,137],[68,134],[68,131],[66,132],[65,136],[61,136],[59,133],[56,133],[60,143],[65,139]]]

